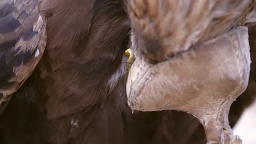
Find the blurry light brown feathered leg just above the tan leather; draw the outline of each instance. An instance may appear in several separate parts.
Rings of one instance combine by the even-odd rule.
[[[251,0],[129,0],[127,13],[137,40],[133,49],[151,62],[164,61],[231,28],[245,25],[252,4]]]

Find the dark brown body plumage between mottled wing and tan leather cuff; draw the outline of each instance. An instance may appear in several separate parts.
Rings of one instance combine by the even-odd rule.
[[[206,143],[187,113],[127,106],[123,54],[131,29],[123,1],[41,0],[39,10],[46,49],[0,116],[0,143]],[[249,90],[244,98],[254,96]],[[238,101],[243,110],[247,101]],[[239,117],[232,107],[231,119]]]

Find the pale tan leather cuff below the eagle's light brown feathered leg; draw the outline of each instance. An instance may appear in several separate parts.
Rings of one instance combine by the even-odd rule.
[[[228,113],[247,87],[250,63],[247,27],[155,65],[136,59],[127,80],[128,104],[139,111],[191,113],[205,128],[207,143],[241,143]]]

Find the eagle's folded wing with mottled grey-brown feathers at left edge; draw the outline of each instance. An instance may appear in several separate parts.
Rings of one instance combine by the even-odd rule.
[[[0,113],[40,61],[45,25],[38,0],[0,1]]]

